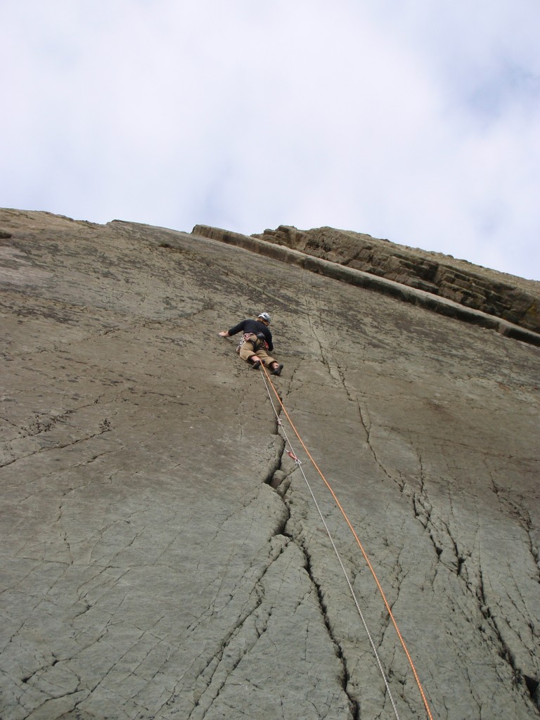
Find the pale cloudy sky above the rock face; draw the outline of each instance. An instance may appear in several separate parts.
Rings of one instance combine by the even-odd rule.
[[[0,206],[540,280],[539,0],[1,0]]]

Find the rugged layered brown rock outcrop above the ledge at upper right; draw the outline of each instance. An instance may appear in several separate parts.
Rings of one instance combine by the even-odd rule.
[[[416,287],[540,331],[540,282],[486,271],[463,260],[335,228],[280,225],[253,235],[348,267]]]

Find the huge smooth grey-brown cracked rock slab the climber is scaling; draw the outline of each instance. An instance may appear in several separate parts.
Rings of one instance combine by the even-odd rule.
[[[540,349],[129,222],[0,211],[0,716],[540,716]],[[302,461],[287,454],[291,441]],[[304,470],[317,506],[301,474]]]

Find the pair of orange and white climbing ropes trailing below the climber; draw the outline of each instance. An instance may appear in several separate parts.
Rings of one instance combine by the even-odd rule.
[[[318,505],[318,502],[317,502],[317,500],[316,500],[316,498],[315,498],[315,494],[313,493],[312,488],[311,488],[309,482],[307,481],[307,477],[305,476],[305,472],[304,472],[304,470],[303,470],[303,468],[302,468],[302,462],[301,462],[300,459],[298,458],[297,454],[294,452],[294,450],[293,450],[293,448],[292,448],[292,444],[291,444],[291,442],[289,441],[289,438],[287,437],[286,431],[284,430],[284,426],[283,426],[282,420],[281,420],[281,418],[279,418],[279,413],[278,413],[278,411],[277,411],[277,409],[276,409],[276,405],[274,404],[274,400],[273,400],[272,397],[271,397],[271,393],[270,393],[270,390],[269,390],[269,386],[271,387],[272,391],[274,392],[274,395],[276,396],[276,398],[277,398],[277,400],[278,400],[278,402],[279,402],[279,406],[281,407],[281,409],[283,410],[283,413],[284,413],[285,417],[286,417],[287,420],[289,421],[289,425],[291,426],[292,430],[294,431],[294,434],[297,436],[297,439],[298,439],[298,441],[300,442],[302,448],[304,449],[304,451],[305,451],[305,453],[307,454],[308,458],[309,458],[310,461],[312,462],[313,467],[315,467],[315,469],[317,470],[318,474],[320,475],[320,477],[322,478],[323,482],[325,483],[326,487],[327,487],[328,490],[330,491],[330,495],[332,495],[332,497],[333,497],[336,505],[338,506],[338,508],[339,508],[339,510],[340,510],[340,512],[341,512],[341,515],[343,516],[343,518],[345,519],[345,521],[346,521],[346,523],[347,523],[347,525],[348,525],[348,528],[351,530],[352,534],[354,535],[354,539],[356,540],[356,544],[359,546],[359,548],[360,548],[360,550],[361,550],[361,553],[362,553],[362,555],[363,555],[363,557],[364,557],[364,560],[366,561],[366,564],[367,564],[367,566],[369,567],[369,570],[370,570],[371,573],[372,573],[372,576],[373,576],[373,578],[374,578],[374,580],[375,580],[375,583],[376,583],[376,585],[377,585],[377,588],[378,588],[378,590],[379,590],[379,593],[380,593],[380,595],[381,595],[381,597],[382,597],[382,600],[383,600],[383,602],[384,602],[384,606],[385,606],[385,608],[386,608],[386,610],[387,610],[388,616],[390,617],[390,620],[392,621],[392,625],[393,625],[394,628],[395,628],[395,631],[396,631],[396,633],[397,633],[397,637],[398,637],[399,640],[400,640],[400,644],[401,644],[401,646],[402,646],[402,649],[404,650],[405,655],[407,656],[407,660],[408,660],[408,662],[409,662],[410,668],[411,668],[411,670],[413,671],[413,675],[414,675],[414,678],[415,678],[415,681],[416,681],[416,685],[418,685],[418,690],[420,691],[420,696],[421,696],[421,698],[422,698],[423,705],[424,705],[424,707],[426,708],[426,713],[428,714],[428,718],[429,718],[429,720],[433,720],[433,715],[431,714],[431,709],[430,709],[430,707],[429,707],[429,704],[428,704],[428,701],[427,701],[427,698],[426,698],[426,693],[425,693],[424,690],[423,690],[422,683],[420,683],[420,678],[418,677],[418,672],[416,671],[415,665],[414,665],[414,663],[413,663],[413,659],[412,659],[412,657],[410,657],[410,653],[409,653],[408,648],[407,648],[407,646],[406,646],[406,644],[405,644],[405,640],[403,639],[403,636],[402,636],[402,634],[401,634],[401,632],[400,632],[400,629],[397,627],[397,622],[395,621],[394,614],[392,613],[392,608],[390,608],[390,604],[388,603],[388,600],[387,600],[387,598],[386,598],[386,595],[384,595],[384,590],[382,589],[382,586],[381,586],[381,584],[380,584],[380,582],[379,582],[379,579],[378,579],[378,577],[377,577],[377,575],[376,575],[376,573],[375,573],[375,571],[374,571],[374,568],[373,568],[373,566],[372,566],[372,563],[369,561],[369,557],[367,556],[366,551],[364,550],[364,546],[361,544],[361,541],[360,541],[360,539],[359,539],[359,536],[356,534],[356,531],[354,530],[354,527],[352,526],[351,521],[348,519],[348,516],[346,515],[345,510],[343,510],[343,507],[342,507],[341,503],[339,502],[339,500],[338,500],[338,498],[337,498],[337,496],[336,496],[336,493],[333,491],[332,487],[330,486],[330,483],[328,482],[328,480],[326,480],[325,476],[323,475],[323,472],[321,472],[320,468],[318,467],[318,464],[317,464],[317,463],[315,462],[315,460],[312,458],[312,456],[311,456],[311,454],[310,454],[310,451],[308,451],[307,447],[305,446],[304,442],[302,441],[302,438],[300,437],[300,434],[298,433],[297,429],[294,427],[294,423],[292,422],[291,418],[289,417],[289,413],[287,413],[287,410],[285,409],[285,406],[284,406],[284,404],[283,404],[283,402],[282,402],[282,399],[281,399],[281,397],[279,397],[279,394],[278,394],[276,388],[274,387],[274,384],[273,384],[272,381],[271,381],[271,378],[270,378],[270,376],[269,376],[269,372],[268,372],[268,370],[266,369],[266,367],[265,367],[264,365],[263,365],[263,370],[264,370],[264,372],[261,373],[261,377],[262,377],[263,380],[264,380],[264,384],[265,384],[265,387],[266,387],[266,392],[267,392],[267,394],[268,394],[268,396],[269,396],[269,399],[270,399],[272,408],[274,409],[274,413],[275,413],[276,419],[277,419],[277,424],[278,424],[278,426],[280,426],[280,427],[282,428],[282,432],[283,432],[283,434],[284,434],[284,438],[285,438],[286,444],[288,444],[288,446],[289,446],[289,450],[287,450],[287,454],[289,455],[290,458],[292,458],[292,459],[294,460],[294,462],[295,462],[295,463],[297,464],[297,466],[299,467],[300,472],[302,473],[302,477],[304,478],[304,482],[305,482],[305,484],[307,485],[307,489],[309,490],[310,495],[311,495],[311,497],[312,497],[312,500],[313,500],[313,502],[315,503],[315,507],[316,507],[317,510],[318,510],[320,519],[323,521],[323,525],[325,526],[326,533],[328,534],[328,538],[330,539],[330,544],[332,545],[333,551],[335,552],[336,557],[338,558],[338,562],[339,562],[339,564],[340,564],[340,566],[341,566],[341,570],[343,571],[343,575],[345,575],[345,579],[346,579],[348,588],[349,588],[349,590],[351,591],[351,595],[352,595],[352,597],[353,597],[354,604],[355,604],[355,606],[356,606],[356,610],[357,610],[358,613],[359,613],[359,616],[360,616],[360,618],[361,618],[361,622],[362,622],[362,624],[364,625],[364,629],[365,629],[365,631],[366,631],[366,635],[367,635],[367,637],[368,637],[368,639],[369,639],[369,644],[371,645],[372,650],[373,650],[373,652],[374,652],[375,659],[377,660],[377,665],[379,666],[379,670],[380,670],[380,672],[381,672],[382,679],[383,679],[383,681],[384,681],[384,685],[385,685],[385,687],[386,687],[386,689],[387,689],[388,696],[389,696],[389,698],[390,698],[390,702],[392,703],[392,708],[393,708],[393,710],[394,710],[396,719],[399,720],[399,715],[397,714],[397,708],[396,708],[396,706],[395,706],[394,698],[392,697],[392,693],[391,693],[391,691],[390,691],[390,686],[389,686],[389,684],[388,684],[387,675],[386,675],[386,673],[384,672],[384,669],[383,669],[383,667],[382,667],[382,662],[381,662],[381,660],[379,659],[379,653],[377,652],[377,648],[375,647],[375,644],[374,644],[374,642],[373,642],[372,634],[370,633],[370,631],[369,631],[369,629],[368,629],[368,626],[367,626],[367,624],[366,624],[364,615],[363,615],[363,613],[362,613],[362,611],[361,611],[361,608],[360,608],[360,605],[359,605],[359,601],[358,601],[358,599],[356,598],[356,594],[354,593],[354,589],[353,589],[353,586],[352,586],[352,584],[351,584],[351,580],[349,580],[349,577],[348,577],[348,575],[347,575],[346,569],[345,569],[345,567],[344,567],[344,565],[343,565],[343,562],[342,562],[342,560],[341,560],[341,557],[340,557],[340,555],[339,555],[339,553],[338,553],[338,549],[336,548],[336,545],[334,544],[332,535],[330,534],[330,530],[328,529],[328,526],[327,526],[327,524],[326,524],[326,522],[325,522],[325,519],[324,519],[324,517],[323,517],[323,513],[321,512],[320,507],[319,507],[319,505]]]

